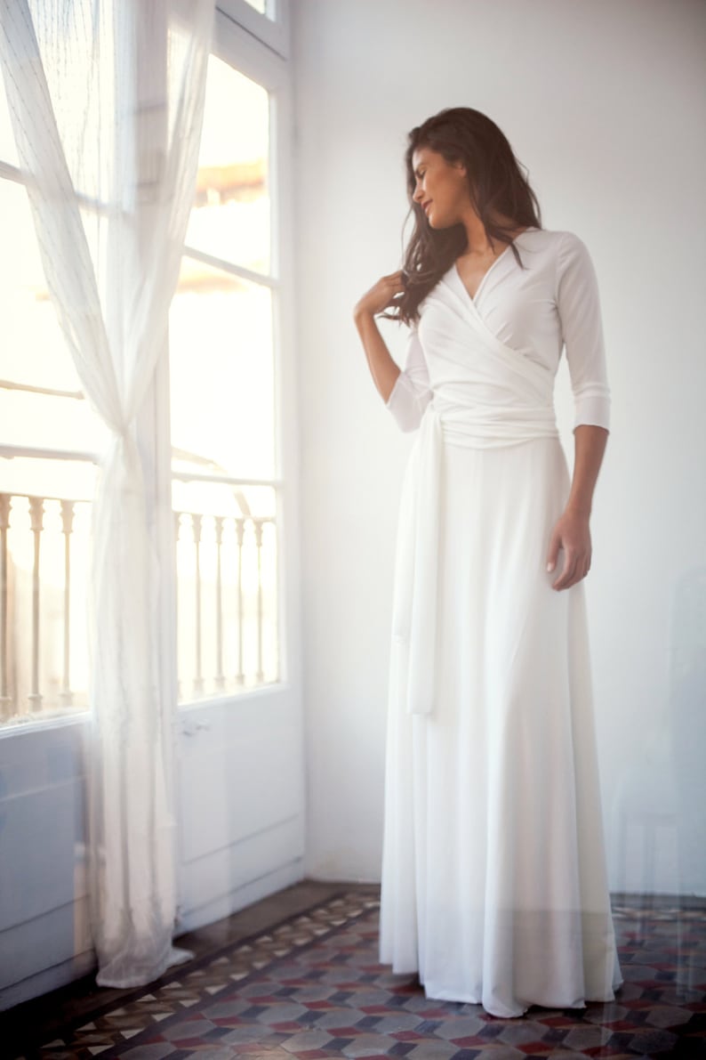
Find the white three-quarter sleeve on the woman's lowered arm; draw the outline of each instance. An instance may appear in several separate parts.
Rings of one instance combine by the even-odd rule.
[[[610,428],[611,391],[598,280],[585,244],[564,232],[557,251],[557,308],[575,401],[574,429],[581,423]]]

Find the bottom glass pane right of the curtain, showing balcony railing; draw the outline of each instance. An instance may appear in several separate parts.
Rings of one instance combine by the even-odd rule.
[[[171,498],[179,702],[277,682],[274,489],[175,480]]]

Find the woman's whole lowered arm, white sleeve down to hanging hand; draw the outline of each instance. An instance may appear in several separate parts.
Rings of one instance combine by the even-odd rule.
[[[598,280],[585,244],[564,232],[557,252],[556,304],[576,405],[574,475],[566,506],[557,520],[547,551],[547,570],[562,570],[551,587],[566,589],[589,573],[593,494],[610,427],[611,392]]]

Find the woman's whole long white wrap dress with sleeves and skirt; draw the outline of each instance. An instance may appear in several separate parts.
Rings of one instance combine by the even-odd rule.
[[[420,304],[387,407],[417,429],[395,562],[379,956],[428,997],[494,1015],[610,1001],[583,582],[546,570],[569,492],[554,381],[609,426],[582,241],[528,228],[471,298],[453,265]]]

